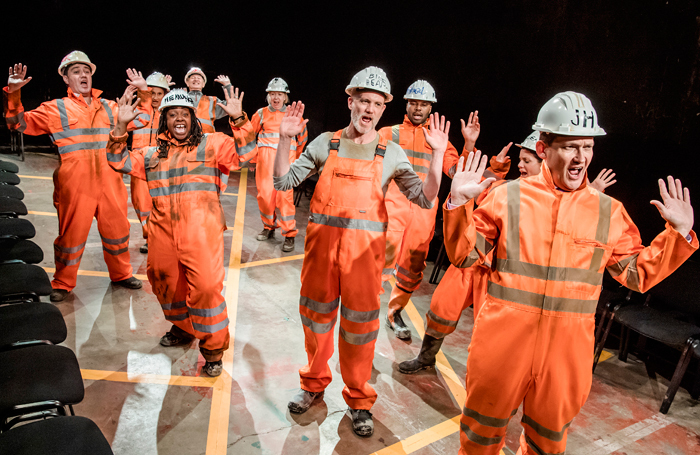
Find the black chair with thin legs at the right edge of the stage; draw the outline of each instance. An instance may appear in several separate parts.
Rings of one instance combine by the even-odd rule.
[[[671,378],[671,384],[661,404],[660,412],[666,414],[676,396],[678,387],[693,357],[700,358],[700,293],[698,288],[700,264],[686,261],[671,276],[654,286],[643,299],[630,296],[608,303],[601,327],[607,322],[602,336],[597,339],[594,365],[598,363],[613,322],[621,326],[618,357],[627,361],[632,332],[640,336],[640,349],[645,340],[651,339],[681,351]],[[637,302],[642,300],[643,302]],[[690,395],[700,395],[700,365]]]

